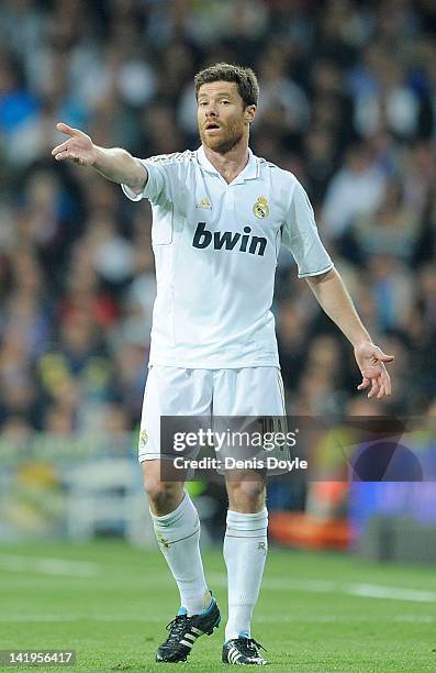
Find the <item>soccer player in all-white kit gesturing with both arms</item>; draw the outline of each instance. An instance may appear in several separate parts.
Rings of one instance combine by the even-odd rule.
[[[308,196],[295,177],[254,156],[249,128],[258,84],[249,68],[216,64],[195,76],[201,146],[148,159],[103,148],[66,124],[56,161],[91,166],[121,184],[133,201],[153,207],[157,297],[144,395],[139,462],[163,554],[181,607],[158,648],[159,662],[186,661],[195,640],[212,633],[220,611],[203,572],[200,522],[181,482],[161,481],[161,416],[282,416],[282,383],[270,311],[280,244],[297,261],[324,311],[354,346],[368,397],[390,395],[384,363],[317,234]],[[267,553],[265,481],[257,472],[226,479],[224,559],[228,620],[222,660],[264,664],[251,637]]]

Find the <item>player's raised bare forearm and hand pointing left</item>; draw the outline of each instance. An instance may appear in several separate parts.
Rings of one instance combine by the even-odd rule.
[[[57,162],[69,159],[81,166],[90,166],[108,180],[126,185],[135,194],[143,191],[148,179],[147,169],[128,152],[120,147],[99,147],[89,135],[67,124],[59,123],[56,128],[69,136],[52,150]]]

